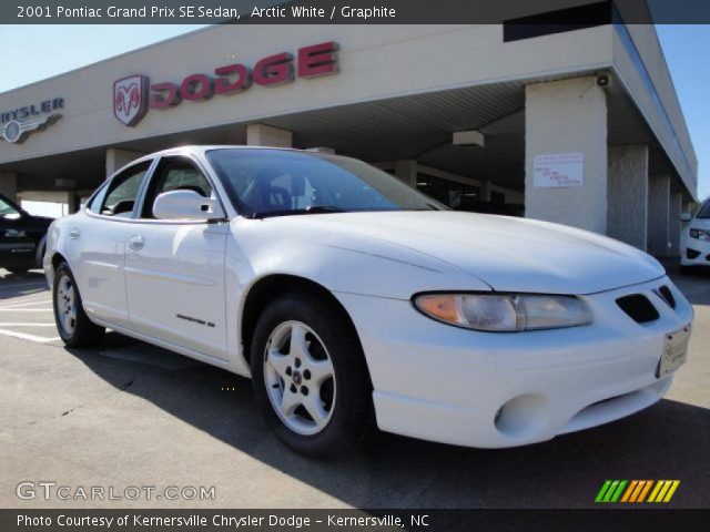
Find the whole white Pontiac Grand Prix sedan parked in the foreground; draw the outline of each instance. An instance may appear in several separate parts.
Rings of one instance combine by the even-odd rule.
[[[142,157],[52,224],[44,270],[67,345],[108,327],[250,376],[311,456],[373,423],[499,448],[619,419],[668,390],[692,320],[638,249],[295,150]]]

